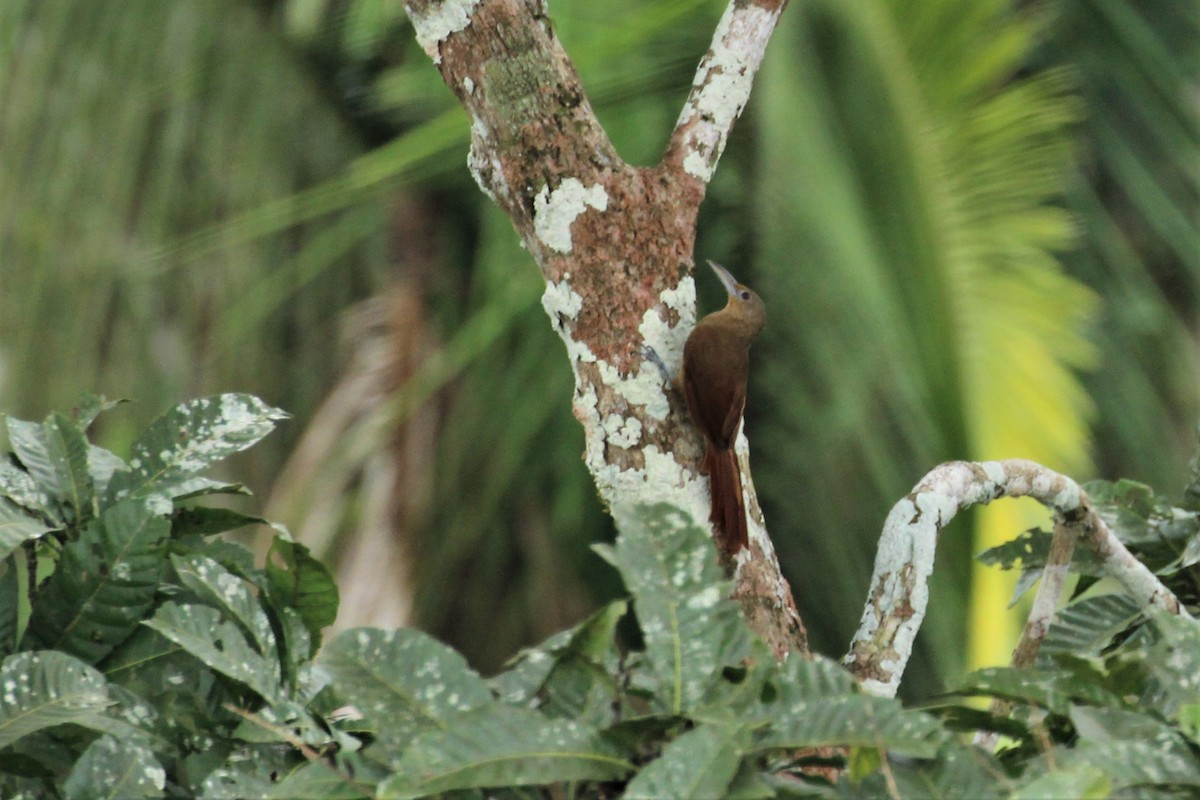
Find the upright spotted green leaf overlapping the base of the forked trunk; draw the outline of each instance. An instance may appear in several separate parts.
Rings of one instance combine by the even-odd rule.
[[[710,699],[721,670],[746,655],[750,634],[706,531],[666,504],[618,519],[611,560],[634,597],[659,702],[679,714]]]

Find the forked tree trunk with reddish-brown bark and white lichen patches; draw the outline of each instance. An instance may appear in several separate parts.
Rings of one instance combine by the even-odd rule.
[[[696,218],[750,97],[786,0],[733,0],[650,168],[617,155],[538,0],[409,0],[418,40],[472,120],[468,166],[511,218],[544,277],[542,305],[566,343],[584,461],[619,527],[668,503],[708,528],[702,443],[680,398],[644,363],[678,367],[696,318]],[[776,655],[808,655],[804,626],[767,537],[739,437],[750,547],[734,596]]]

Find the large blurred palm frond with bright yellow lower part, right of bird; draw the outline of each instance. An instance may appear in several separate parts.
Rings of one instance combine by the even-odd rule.
[[[1086,468],[1073,369],[1091,362],[1094,303],[1055,258],[1072,225],[1046,203],[1076,112],[1061,76],[1018,77],[1034,20],[1003,2],[865,1],[785,19],[754,104],[772,321],[750,427],[772,530],[796,531],[779,539],[805,619],[836,651],[859,609],[829,599],[862,596],[887,509],[925,470]],[[910,691],[962,668],[930,643],[962,638],[970,552],[947,537]],[[977,602],[995,615],[1006,600]],[[995,628],[980,633],[1003,640]]]

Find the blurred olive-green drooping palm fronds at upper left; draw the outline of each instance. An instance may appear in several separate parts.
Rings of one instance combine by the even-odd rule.
[[[284,211],[286,235],[175,246],[360,150],[262,14],[6,2],[0,30],[4,408],[40,415],[103,391],[137,399],[140,419],[240,387],[311,409],[334,365],[330,312],[373,283],[378,206],[311,225]]]

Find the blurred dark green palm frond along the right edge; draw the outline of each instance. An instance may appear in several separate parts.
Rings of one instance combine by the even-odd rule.
[[[1200,411],[1200,4],[1070,0],[1042,52],[1075,67],[1087,107],[1069,207],[1070,269],[1105,299],[1102,474],[1176,485]]]

